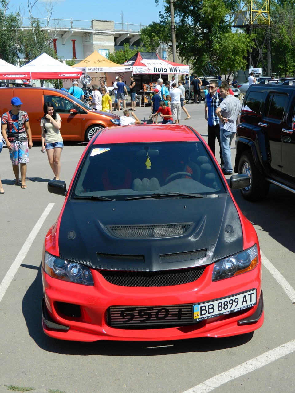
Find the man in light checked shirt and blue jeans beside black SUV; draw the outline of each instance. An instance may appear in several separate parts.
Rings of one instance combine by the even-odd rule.
[[[230,94],[228,84],[221,84],[219,91],[223,101],[216,109],[216,115],[220,119],[220,140],[224,160],[224,168],[222,171],[223,174],[232,174],[230,145],[236,134],[236,122],[241,109],[241,103],[238,98]]]

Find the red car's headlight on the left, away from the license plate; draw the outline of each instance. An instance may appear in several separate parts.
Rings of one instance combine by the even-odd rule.
[[[45,272],[53,278],[71,283],[94,285],[90,269],[81,263],[66,261],[45,252]]]

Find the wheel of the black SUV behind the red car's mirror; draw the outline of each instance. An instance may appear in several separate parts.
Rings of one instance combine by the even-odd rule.
[[[249,187],[241,189],[243,197],[252,202],[264,200],[269,190],[269,182],[258,171],[250,150],[245,151],[240,158],[239,173],[247,174],[250,178]]]

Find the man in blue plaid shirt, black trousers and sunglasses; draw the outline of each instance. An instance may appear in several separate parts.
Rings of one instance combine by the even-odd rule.
[[[215,141],[216,138],[219,143],[220,151],[220,166],[223,168],[224,160],[222,156],[221,142],[220,142],[220,127],[219,118],[216,114],[216,109],[220,104],[219,94],[216,91],[218,88],[217,81],[211,81],[209,84],[209,94],[205,96],[205,119],[208,121],[208,145],[215,156]]]

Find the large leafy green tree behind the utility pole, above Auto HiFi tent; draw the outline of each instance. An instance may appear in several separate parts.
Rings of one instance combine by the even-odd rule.
[[[159,2],[159,0],[158,0]],[[165,5],[166,4],[166,5]],[[216,59],[224,72],[234,69],[240,59],[247,56],[249,39],[243,33],[231,31],[232,17],[238,7],[236,0],[183,0],[173,2],[176,46],[181,61],[189,62],[200,73],[207,61]],[[141,40],[150,46],[159,42],[171,42],[169,2],[164,1],[164,13],[160,13],[159,33],[156,25],[142,29]],[[227,45],[226,45],[227,44]],[[234,44],[239,48],[234,48]],[[159,46],[159,45],[158,45]],[[230,50],[238,51],[238,61]],[[242,65],[246,65],[242,62]],[[238,67],[240,68],[240,67]]]

